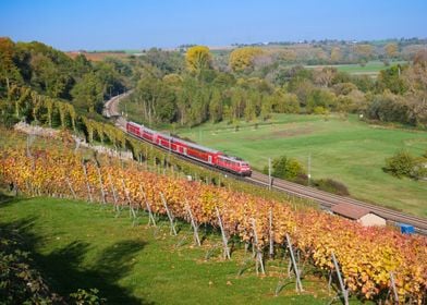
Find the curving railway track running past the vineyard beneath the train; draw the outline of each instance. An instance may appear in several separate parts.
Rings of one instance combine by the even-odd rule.
[[[122,94],[122,95],[119,95],[119,96],[115,96],[115,97],[111,98],[110,100],[108,100],[105,103],[105,111],[103,111],[103,113],[107,118],[115,118],[115,125],[118,127],[120,127],[121,130],[123,130],[124,132],[126,131],[126,127],[125,127],[126,120],[123,117],[121,117],[121,114],[118,112],[118,103],[120,102],[120,100],[123,97],[127,96],[129,94],[130,94],[130,91]],[[137,137],[135,137],[135,138],[137,138]],[[141,138],[137,138],[137,139],[141,139]],[[158,146],[156,146],[156,147],[158,147]],[[158,148],[162,149],[163,151],[169,151],[166,148],[161,148],[161,147],[158,147]],[[232,176],[240,179],[242,181],[245,181],[247,183],[253,183],[253,184],[269,187],[269,178],[268,178],[268,175],[266,175],[264,173],[254,171],[252,176],[249,176],[249,178],[240,178],[240,176],[230,174],[228,172],[220,171],[217,168],[212,168],[210,166],[198,162],[198,161],[193,160],[191,158],[186,158],[186,157],[178,155],[178,154],[175,154],[175,156],[178,156],[181,159],[184,159],[186,161],[190,161],[192,163],[196,163],[198,166],[205,167],[207,169],[222,172],[228,175],[232,175]],[[301,198],[314,200],[327,209],[331,208],[334,205],[344,204],[344,203],[352,205],[352,206],[355,206],[355,207],[363,207],[363,208],[368,209],[370,212],[374,212],[374,213],[385,218],[391,224],[398,224],[398,223],[411,224],[411,225],[414,225],[415,231],[417,233],[427,235],[427,219],[425,219],[425,218],[411,216],[411,215],[403,213],[403,212],[400,212],[400,211],[396,211],[396,210],[393,210],[390,208],[364,203],[364,202],[361,202],[361,200],[357,200],[354,198],[350,198],[350,197],[339,196],[335,194],[319,191],[314,187],[300,185],[300,184],[296,184],[293,182],[289,182],[289,181],[280,180],[280,179],[276,179],[276,178],[273,179],[273,181],[271,183],[271,187],[274,190],[278,190],[278,191],[286,192],[288,194],[291,194],[291,195],[298,196]]]

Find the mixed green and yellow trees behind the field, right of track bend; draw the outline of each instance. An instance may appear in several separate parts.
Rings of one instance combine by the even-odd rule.
[[[233,50],[227,69],[203,46],[188,48],[185,56],[156,52],[163,54],[160,61],[149,56],[135,60],[141,77],[127,100],[141,110],[134,119],[149,125],[258,122],[273,112],[339,112],[427,126],[427,51],[417,52],[407,64],[382,70],[377,78],[333,66],[277,65],[256,47]]]

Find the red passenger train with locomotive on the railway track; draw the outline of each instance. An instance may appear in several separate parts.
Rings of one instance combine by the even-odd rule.
[[[171,151],[204,162],[206,164],[225,170],[239,175],[251,176],[249,164],[237,158],[200,145],[183,141],[173,136],[164,135],[147,129],[134,122],[126,123],[127,133],[144,141],[170,149]]]

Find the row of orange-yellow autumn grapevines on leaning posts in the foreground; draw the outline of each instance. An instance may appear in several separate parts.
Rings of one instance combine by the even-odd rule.
[[[1,182],[24,194],[112,203],[118,210],[129,207],[131,215],[136,209],[166,215],[171,234],[175,234],[174,219],[183,219],[195,228],[196,241],[198,225],[220,228],[224,257],[230,257],[229,240],[239,237],[254,246],[261,272],[266,254],[288,245],[290,254],[291,248],[297,249],[301,259],[325,274],[339,267],[345,291],[363,300],[427,301],[424,236],[402,235],[390,228],[363,228],[312,209],[294,211],[273,199],[141,171],[135,162],[84,161],[78,154],[54,149],[4,148],[0,154]],[[150,219],[155,222],[155,217]]]

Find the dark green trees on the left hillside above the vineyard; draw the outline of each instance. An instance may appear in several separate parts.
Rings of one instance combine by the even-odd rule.
[[[10,100],[15,87],[73,103],[77,111],[102,109],[106,98],[130,86],[131,69],[115,59],[75,59],[41,42],[13,42],[0,37],[0,98]]]

